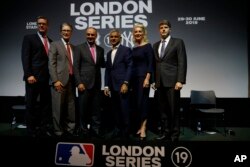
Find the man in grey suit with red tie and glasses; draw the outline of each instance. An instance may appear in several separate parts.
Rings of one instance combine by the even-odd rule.
[[[73,27],[60,26],[61,39],[51,43],[49,72],[52,82],[52,116],[56,136],[73,135],[75,130],[75,83],[73,62],[75,49],[69,43]]]

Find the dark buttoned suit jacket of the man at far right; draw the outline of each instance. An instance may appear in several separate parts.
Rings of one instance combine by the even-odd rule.
[[[160,80],[164,87],[174,87],[176,82],[186,83],[187,55],[182,39],[170,38],[162,58],[159,58],[158,48],[161,41],[153,45],[156,59],[156,87]]]

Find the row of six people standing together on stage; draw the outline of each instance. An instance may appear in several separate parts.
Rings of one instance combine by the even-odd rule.
[[[61,24],[58,41],[47,36],[46,17],[39,16],[37,26],[38,32],[26,35],[22,44],[28,135],[49,135],[52,122],[56,136],[77,132],[100,137],[104,92],[112,104],[113,136],[127,139],[135,134],[145,140],[152,87],[157,91],[161,122],[156,140],[179,139],[180,90],[186,82],[187,56],[183,40],[171,37],[169,21],[159,23],[161,39],[153,45],[143,24],[133,27],[133,48],[121,44],[118,29],[111,30],[112,48],[106,61],[104,49],[96,44],[94,27],[86,29],[86,42],[75,46],[70,42],[71,24]],[[103,92],[101,68],[105,68]]]

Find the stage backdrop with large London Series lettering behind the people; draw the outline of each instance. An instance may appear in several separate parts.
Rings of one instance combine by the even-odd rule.
[[[49,18],[49,36],[58,40],[59,25],[74,26],[72,43],[85,41],[88,26],[99,31],[98,44],[110,49],[108,33],[122,32],[124,45],[133,47],[134,23],[147,26],[150,43],[159,40],[158,22],[172,23],[172,36],[186,44],[187,84],[191,89],[213,89],[218,97],[248,97],[247,1],[228,0],[8,0],[1,4],[0,96],[23,96],[21,44],[36,32],[36,17]],[[104,71],[104,69],[103,69]]]

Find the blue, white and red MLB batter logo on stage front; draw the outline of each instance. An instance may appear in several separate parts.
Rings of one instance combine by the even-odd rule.
[[[93,166],[94,145],[89,143],[64,143],[56,145],[56,165]]]

